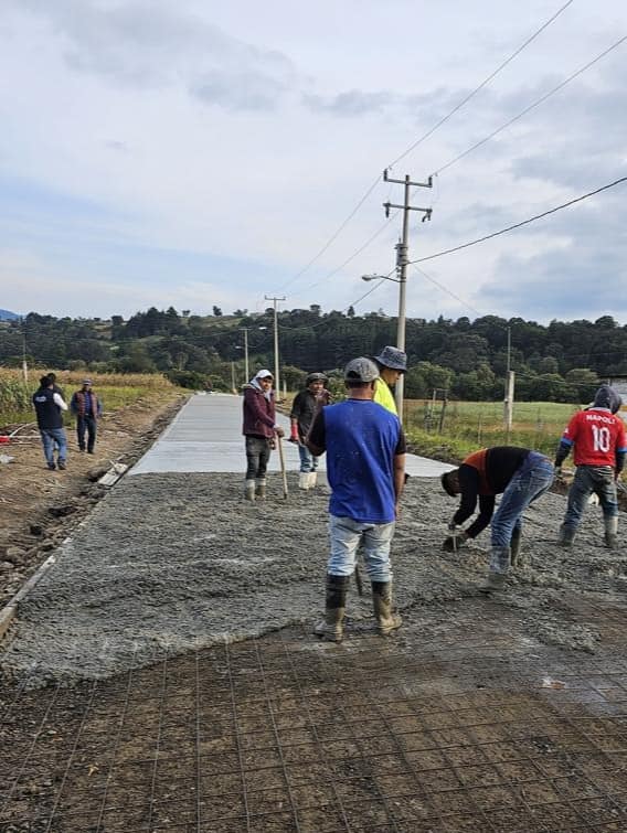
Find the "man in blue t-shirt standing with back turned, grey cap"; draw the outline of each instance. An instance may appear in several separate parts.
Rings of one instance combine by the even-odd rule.
[[[343,636],[348,584],[360,544],[379,632],[387,636],[401,627],[401,617],[392,611],[390,545],[405,483],[405,437],[398,417],[372,401],[378,378],[370,359],[349,362],[348,399],[323,407],[320,397],[305,440],[316,457],[327,452],[331,485],[326,611],[315,628],[331,642]]]

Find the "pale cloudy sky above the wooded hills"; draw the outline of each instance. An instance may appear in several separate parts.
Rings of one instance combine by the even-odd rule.
[[[627,177],[625,36],[625,0],[3,0],[0,308],[395,314],[382,171],[435,174],[412,259]],[[407,314],[627,322],[626,197],[411,266]]]

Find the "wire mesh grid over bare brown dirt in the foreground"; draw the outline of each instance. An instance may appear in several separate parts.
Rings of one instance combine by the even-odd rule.
[[[466,602],[390,640],[287,629],[8,687],[0,831],[627,830],[624,615],[596,655],[531,652],[516,616],[471,631]]]

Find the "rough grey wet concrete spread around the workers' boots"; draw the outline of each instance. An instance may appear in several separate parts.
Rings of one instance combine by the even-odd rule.
[[[184,652],[314,620],[323,607],[328,489],[280,479],[268,500],[248,504],[231,474],[125,478],[57,551],[56,566],[20,606],[2,670],[31,684],[104,677]],[[440,548],[455,501],[435,479],[411,479],[392,558],[400,609],[476,597],[489,533],[466,549]],[[594,651],[594,628],[561,613],[572,590],[627,589],[627,556],[603,547],[598,508],[572,551],[555,546],[564,498],[546,494],[528,510],[523,564],[504,604],[525,611],[529,634],[548,644]],[[371,616],[365,592],[351,588],[349,616]],[[564,611],[566,606],[564,606]]]

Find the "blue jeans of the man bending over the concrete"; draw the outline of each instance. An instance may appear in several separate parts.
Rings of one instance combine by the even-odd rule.
[[[522,513],[530,503],[551,488],[555,469],[544,455],[532,451],[508,483],[492,517],[491,544],[509,547],[514,527],[522,525]]]

